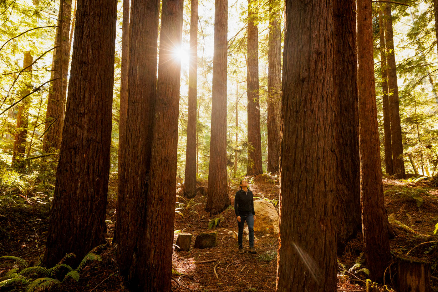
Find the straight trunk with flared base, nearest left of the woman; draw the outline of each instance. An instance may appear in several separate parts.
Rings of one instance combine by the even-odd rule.
[[[215,32],[212,84],[212,128],[208,196],[205,211],[219,214],[231,204],[226,183],[226,70],[228,1],[215,0]]]

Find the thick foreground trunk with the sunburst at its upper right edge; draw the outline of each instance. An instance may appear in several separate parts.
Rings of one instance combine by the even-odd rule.
[[[177,196],[178,112],[183,29],[183,0],[163,0],[157,94],[152,132],[151,171],[148,182],[146,239],[139,253],[140,287],[144,291],[172,288],[172,243]]]

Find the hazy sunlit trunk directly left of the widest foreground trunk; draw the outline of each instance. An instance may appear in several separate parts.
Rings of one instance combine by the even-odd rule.
[[[281,130],[281,30],[277,0],[269,1],[268,40],[268,172],[280,170]]]

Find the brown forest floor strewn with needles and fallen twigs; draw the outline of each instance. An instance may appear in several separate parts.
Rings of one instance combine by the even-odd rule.
[[[265,197],[267,200],[279,198],[278,182],[267,179],[266,176],[250,177],[248,180],[255,197]],[[434,234],[435,224],[438,223],[438,190],[425,181],[414,183],[411,180],[384,179],[383,182],[386,210],[397,232],[397,236],[390,240],[393,257],[406,256],[406,253],[409,253],[410,257],[431,262],[431,284],[438,286],[438,243],[436,242],[438,236]],[[178,196],[182,196],[180,183],[177,183]],[[207,183],[200,183],[200,186],[207,186]],[[107,246],[99,252],[102,260],[92,261],[82,269],[79,281],[69,278],[54,291],[128,291],[119,274],[115,262],[115,248],[112,246],[116,189],[117,184],[113,177],[109,183]],[[232,205],[236,190],[237,186],[229,189]],[[32,196],[35,196],[32,192],[21,196],[27,198],[24,203],[0,197],[0,256],[21,257],[28,262],[28,266],[32,266],[40,262],[44,251],[49,204],[41,202],[37,204],[37,200],[32,200]],[[178,232],[190,232],[195,237],[200,232],[210,231],[208,222],[211,218],[204,211],[205,197],[198,194],[192,200],[185,201],[184,198],[177,197],[177,201],[184,203],[180,205],[184,210],[181,210],[182,215],[175,215],[174,239]],[[172,290],[175,292],[275,291],[278,237],[255,232],[254,246],[257,254],[247,252],[248,242],[245,239],[245,253],[239,254],[237,239],[233,233],[228,233],[237,231],[233,208],[226,209],[219,216],[223,219],[220,225],[213,229],[218,235],[215,247],[173,252]],[[338,258],[338,291],[365,291],[363,288],[366,274],[348,272],[356,262],[363,262],[362,251],[363,243],[359,235],[350,241],[344,254]],[[205,260],[215,261],[194,263]],[[0,281],[7,271],[17,267],[19,267],[17,262],[0,259]],[[22,291],[22,288],[0,287],[0,291]]]

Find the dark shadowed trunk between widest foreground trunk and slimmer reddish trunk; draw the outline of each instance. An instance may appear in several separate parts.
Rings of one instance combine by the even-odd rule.
[[[333,1],[338,253],[343,252],[346,243],[362,230],[355,10],[354,0]]]

